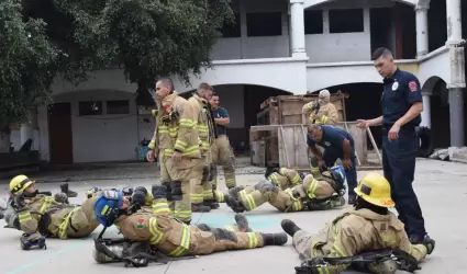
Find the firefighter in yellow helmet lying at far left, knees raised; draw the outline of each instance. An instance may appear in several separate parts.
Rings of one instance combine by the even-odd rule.
[[[93,215],[93,204],[98,187],[93,187],[82,205],[71,205],[65,193],[54,197],[37,194],[34,181],[18,175],[10,182],[10,195],[13,197],[15,215],[13,226],[22,230],[21,247],[24,250],[45,248],[45,238],[84,238],[89,236],[99,221]]]

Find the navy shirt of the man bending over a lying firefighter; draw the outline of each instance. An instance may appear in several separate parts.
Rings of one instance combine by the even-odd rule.
[[[321,126],[323,129],[323,138],[320,141],[314,141],[310,136],[307,136],[307,145],[313,147],[314,145],[321,146],[324,149],[334,150],[338,155],[344,155],[344,139],[351,142],[351,157],[355,156],[354,138],[347,132],[335,126]]]

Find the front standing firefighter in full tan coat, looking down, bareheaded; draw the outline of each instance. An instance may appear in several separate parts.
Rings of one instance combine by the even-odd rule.
[[[174,217],[190,224],[190,180],[201,180],[204,165],[197,128],[198,115],[191,104],[174,91],[170,79],[156,82],[156,129],[146,159],[152,162],[158,156],[160,180],[171,193]]]

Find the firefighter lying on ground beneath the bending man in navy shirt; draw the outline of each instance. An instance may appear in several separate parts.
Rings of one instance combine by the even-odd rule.
[[[344,182],[345,171],[341,167],[331,168],[323,173],[318,170],[305,175],[302,183],[291,187],[274,182],[235,186],[229,191],[227,205],[236,213],[253,210],[266,202],[283,213],[331,209],[345,204]]]

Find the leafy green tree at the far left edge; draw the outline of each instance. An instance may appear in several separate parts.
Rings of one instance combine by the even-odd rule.
[[[42,20],[23,21],[20,0],[0,2],[0,129],[23,122],[30,105],[47,102],[55,77],[57,49],[45,35]],[[9,147],[3,138],[1,146]]]

